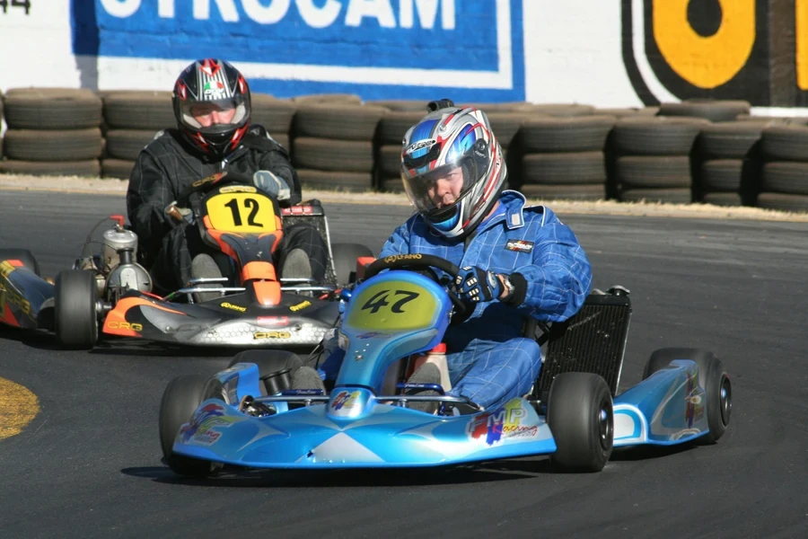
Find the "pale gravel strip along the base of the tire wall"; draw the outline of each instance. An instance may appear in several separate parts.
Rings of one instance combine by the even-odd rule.
[[[122,195],[127,191],[128,181],[79,178],[75,176],[26,176],[0,174],[0,190],[48,190],[95,195]],[[322,202],[351,204],[375,204],[408,206],[404,194],[346,192],[340,190],[303,189],[304,199],[320,199]],[[741,219],[754,221],[808,222],[808,213],[784,212],[763,208],[734,208],[710,204],[661,204],[656,202],[617,202],[599,200],[579,202],[573,200],[528,199],[533,204],[547,203],[558,214],[618,215],[618,216],[669,216],[704,219]]]

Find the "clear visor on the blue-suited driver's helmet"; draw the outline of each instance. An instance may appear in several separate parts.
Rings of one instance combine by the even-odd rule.
[[[402,178],[410,201],[420,213],[434,216],[443,214],[442,210],[453,209],[485,172],[479,171],[477,163],[468,156],[456,163],[416,174],[407,165],[405,159]]]

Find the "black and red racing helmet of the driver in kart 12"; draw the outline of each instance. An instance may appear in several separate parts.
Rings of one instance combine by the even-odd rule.
[[[250,86],[224,60],[206,58],[186,67],[171,103],[182,134],[211,160],[238,147],[250,127]]]

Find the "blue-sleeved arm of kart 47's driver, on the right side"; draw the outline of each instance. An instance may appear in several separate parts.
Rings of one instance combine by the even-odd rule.
[[[537,320],[563,322],[584,305],[592,266],[572,230],[549,223],[535,238],[532,263],[514,270],[511,280],[516,291],[506,303]]]

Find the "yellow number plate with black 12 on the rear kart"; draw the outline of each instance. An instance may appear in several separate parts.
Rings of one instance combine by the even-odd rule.
[[[220,232],[275,232],[272,200],[259,193],[221,193],[207,199],[210,226]]]

